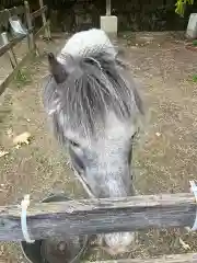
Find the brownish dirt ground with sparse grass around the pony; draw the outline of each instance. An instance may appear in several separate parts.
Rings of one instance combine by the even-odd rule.
[[[40,100],[42,78],[47,73],[43,53],[57,52],[63,44],[65,39],[39,41],[42,56],[26,69],[31,81],[25,85],[13,81],[0,98],[0,150],[9,152],[0,158],[0,205],[20,204],[26,193],[34,201],[61,191],[76,198],[85,196],[49,132]],[[140,194],[188,192],[197,170],[197,83],[192,80],[197,73],[197,53],[185,49],[179,34],[123,34],[119,45],[140,82],[147,113],[135,146],[136,187]],[[31,133],[31,144],[16,149],[13,137],[23,132]],[[150,229],[139,232],[124,256],[192,252],[196,245],[197,236],[185,230]],[[99,253],[92,252],[86,259],[97,259]],[[19,244],[0,243],[0,262],[25,262]]]

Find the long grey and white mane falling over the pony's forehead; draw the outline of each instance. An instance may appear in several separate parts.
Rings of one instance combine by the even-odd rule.
[[[57,83],[53,75],[44,89],[44,105],[53,119],[56,136],[65,141],[67,127],[88,136],[105,125],[113,111],[120,121],[143,113],[142,102],[127,66],[107,50],[94,50],[91,56],[63,55],[67,76]],[[59,72],[66,75],[66,71]]]

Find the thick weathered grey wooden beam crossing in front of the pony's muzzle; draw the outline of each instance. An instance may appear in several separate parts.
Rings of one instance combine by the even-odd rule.
[[[19,206],[0,207],[0,240],[23,240]],[[193,226],[193,194],[147,195],[114,199],[78,199],[31,204],[27,226],[32,239],[51,236],[137,231]]]

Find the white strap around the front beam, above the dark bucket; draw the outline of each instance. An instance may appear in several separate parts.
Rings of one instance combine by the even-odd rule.
[[[24,236],[24,239],[27,243],[34,243],[35,240],[32,240],[28,235],[27,226],[26,226],[26,210],[30,206],[30,195],[25,195],[24,199],[21,202],[21,229]]]

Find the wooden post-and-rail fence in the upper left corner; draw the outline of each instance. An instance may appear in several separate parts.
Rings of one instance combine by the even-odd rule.
[[[13,80],[13,78],[20,72],[20,69],[27,62],[27,60],[30,60],[35,55],[35,52],[37,50],[36,39],[43,33],[43,31],[45,31],[45,37],[47,37],[48,39],[50,38],[49,21],[47,21],[45,16],[47,7],[43,4],[43,0],[39,0],[39,5],[40,9],[36,10],[33,13],[30,12],[30,5],[27,1],[24,2],[23,7],[0,11],[0,26],[3,25],[7,27],[9,19],[12,18],[12,15],[23,15],[24,22],[27,26],[27,34],[18,35],[11,41],[7,41],[7,43],[4,43],[4,45],[0,47],[0,57],[3,54],[9,53],[10,60],[14,60],[13,62],[11,62],[13,71],[8,77],[5,77],[5,79],[0,84],[0,95],[4,92],[5,88]],[[35,32],[33,23],[34,20],[38,16],[42,16],[43,19],[43,26],[37,32]],[[18,59],[13,52],[13,47],[21,43],[24,38],[27,38],[28,52],[25,57],[20,62],[18,62]]]

